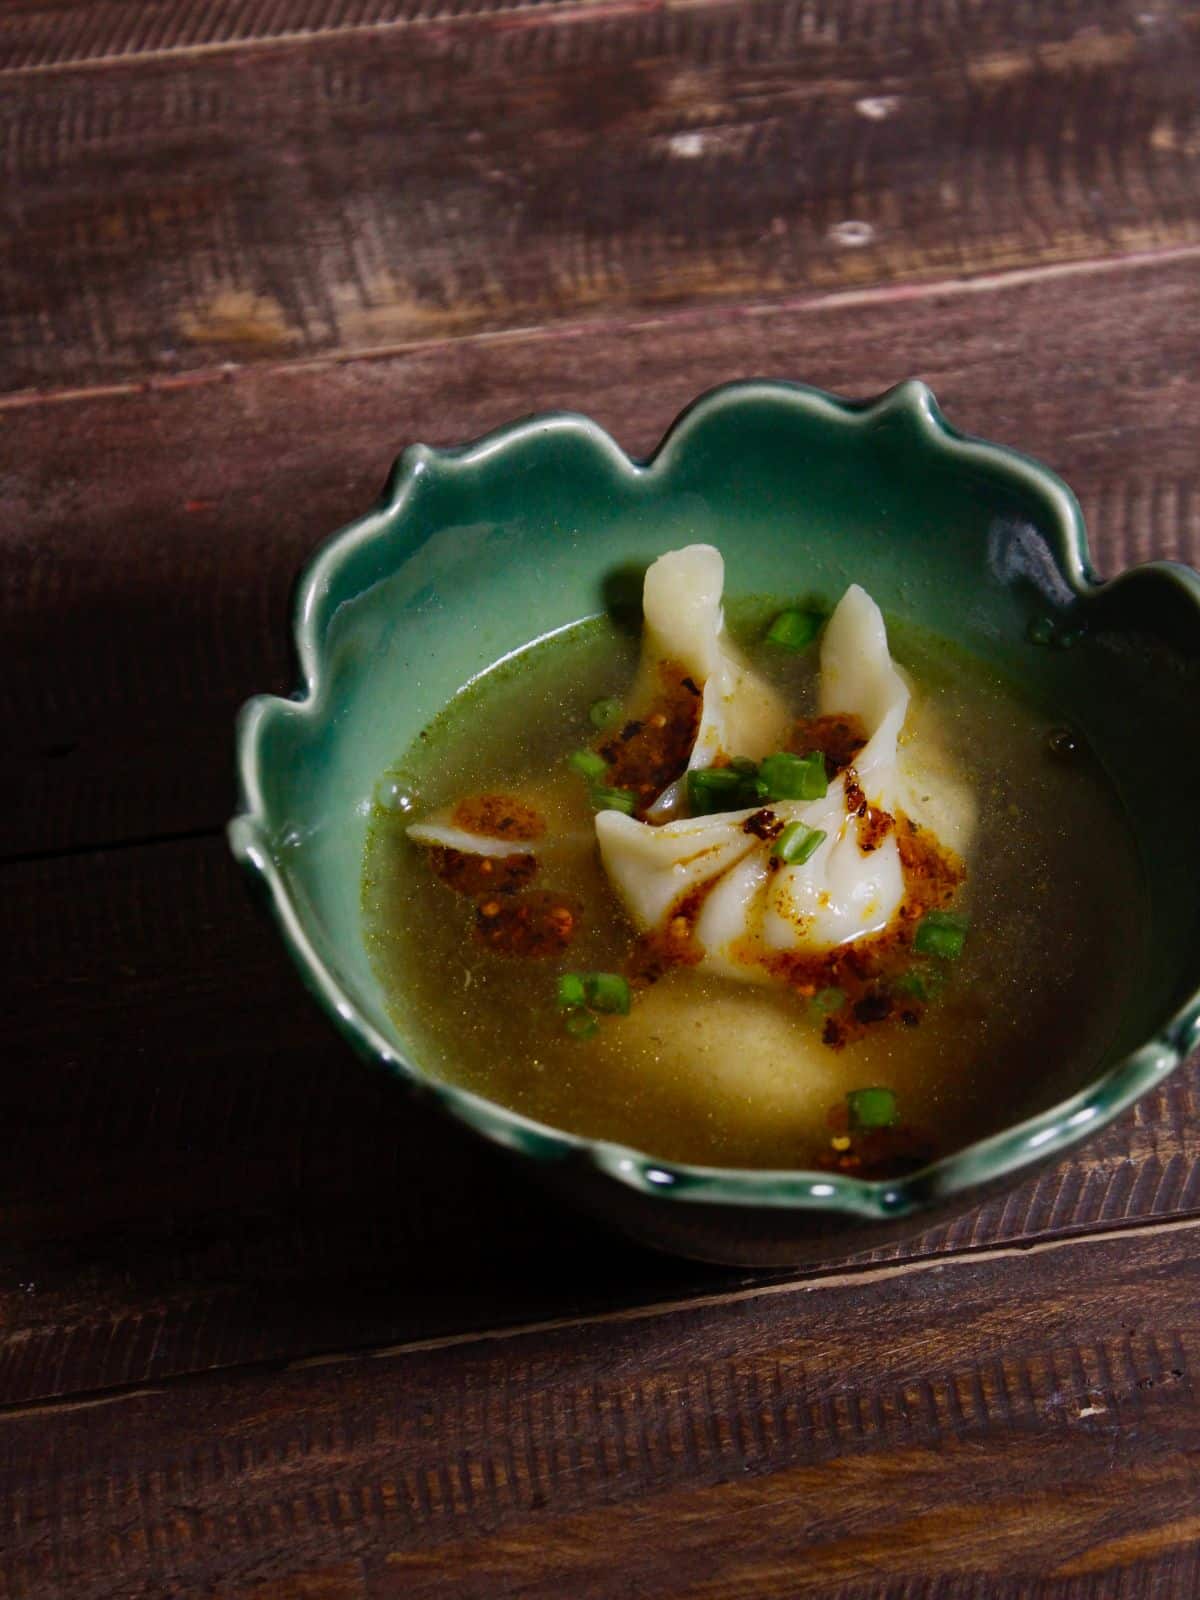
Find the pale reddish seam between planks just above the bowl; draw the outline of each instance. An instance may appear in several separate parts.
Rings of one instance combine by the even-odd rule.
[[[686,328],[714,318],[726,322],[768,320],[786,315],[819,315],[830,310],[846,310],[870,306],[896,306],[930,299],[958,299],[971,294],[995,294],[1026,285],[1051,283],[1062,278],[1091,278],[1110,272],[1126,272],[1171,266],[1179,261],[1200,261],[1200,245],[1165,245],[1162,250],[1136,250],[1114,256],[1088,256],[1080,261],[1056,261],[1037,267],[1013,267],[1005,272],[984,272],[978,277],[936,278],[931,282],[886,283],[862,290],[835,290],[827,294],[787,294],[778,299],[733,301],[730,304],[704,302],[674,312],[653,315],[626,315],[600,318],[571,318],[550,323],[528,323],[517,328],[464,333],[440,339],[410,339],[398,344],[365,346],[358,350],[323,350],[320,355],[296,357],[283,362],[221,362],[218,366],[202,366],[170,378],[138,378],[118,384],[91,384],[80,389],[19,389],[0,395],[0,413],[30,406],[69,405],[88,400],[112,400],[131,395],[171,394],[179,389],[202,389],[208,384],[237,381],[243,373],[266,378],[290,373],[325,371],[331,366],[354,366],[360,362],[386,362],[403,355],[424,355],[446,349],[478,349],[498,344],[539,344],[570,341],[597,333],[637,334],[659,328]]]

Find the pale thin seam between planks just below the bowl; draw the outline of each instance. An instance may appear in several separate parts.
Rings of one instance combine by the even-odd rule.
[[[1171,1218],[1165,1222],[1130,1222],[1123,1227],[1085,1229],[1075,1234],[1064,1234],[1056,1238],[1038,1238],[1027,1245],[1000,1245],[982,1248],[965,1248],[949,1251],[942,1256],[918,1256],[909,1261],[888,1261],[878,1266],[856,1269],[835,1269],[832,1272],[816,1272],[808,1278],[784,1278],[768,1283],[752,1283],[738,1290],[726,1290],[718,1294],[696,1294],[669,1301],[653,1301],[645,1306],[624,1306],[618,1310],[595,1312],[579,1317],[547,1317],[538,1322],[514,1323],[506,1328],[475,1330],[469,1333],[438,1334],[429,1339],[405,1339],[398,1344],[386,1344],[378,1349],[328,1350],[322,1355],[304,1355],[290,1362],[245,1362],[232,1366],[211,1366],[203,1371],[176,1373],[158,1384],[114,1384],[107,1389],[77,1390],[59,1395],[53,1400],[40,1400],[34,1405],[13,1402],[0,1405],[0,1427],[8,1421],[27,1421],[29,1418],[61,1416],[69,1411],[90,1411],[99,1406],[120,1405],[126,1400],[144,1400],[152,1395],[170,1394],[184,1386],[211,1382],[222,1378],[251,1378],[262,1373],[299,1373],[314,1371],[325,1366],[339,1366],[352,1362],[392,1362],[406,1355],[427,1355],[438,1350],[464,1349],[467,1346],[510,1344],[517,1339],[536,1338],[547,1333],[570,1333],[574,1330],[611,1328],[624,1323],[648,1322],[650,1318],[688,1315],[691,1312],[712,1310],[722,1306],[749,1306],[754,1301],[773,1299],[781,1294],[816,1294],[824,1290],[853,1290],[870,1283],[886,1283],[890,1278],[909,1277],[914,1272],[933,1272],[960,1266],[990,1266],[1000,1261],[1021,1261],[1030,1256],[1042,1256],[1059,1250],[1075,1250],[1088,1245],[1106,1245],[1136,1238],[1155,1238],[1162,1235],[1189,1234],[1200,1237],[1200,1214]]]

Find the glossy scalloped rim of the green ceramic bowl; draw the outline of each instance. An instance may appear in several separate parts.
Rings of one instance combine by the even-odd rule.
[[[862,1219],[898,1218],[926,1210],[966,1189],[1040,1163],[1088,1138],[1112,1122],[1141,1094],[1171,1074],[1200,1042],[1200,987],[1162,1024],[1157,1035],[1107,1067],[1098,1078],[1050,1109],[1014,1123],[986,1139],[976,1139],[917,1173],[899,1179],[867,1181],[813,1170],[699,1166],[667,1162],[632,1146],[592,1139],[536,1122],[426,1074],[408,1061],[360,1013],[314,947],[283,874],[266,845],[267,816],[259,771],[259,728],[264,718],[286,707],[290,715],[317,717],[323,709],[322,642],[317,637],[320,597],[341,563],[362,544],[379,536],[403,512],[413,485],[432,464],[474,466],[504,451],[531,434],[570,429],[586,435],[622,477],[651,483],[666,477],[672,458],[683,448],[699,419],[742,400],[782,400],[805,411],[822,414],[842,426],[872,426],[904,411],[914,418],[934,448],[960,461],[1002,466],[1010,478],[1037,490],[1051,507],[1058,542],[1059,573],[1078,598],[1128,582],[1134,574],[1163,573],[1190,597],[1200,622],[1200,574],[1174,562],[1149,562],[1101,584],[1091,565],[1083,515],[1070,488],[1050,467],[987,440],[958,434],[941,414],[930,387],[907,379],[874,400],[851,402],[779,379],[746,379],[722,384],[694,400],[672,422],[658,448],[645,461],[630,458],[598,422],[574,411],[547,411],[522,418],[477,440],[448,448],[410,445],[395,461],[376,506],[331,534],[302,570],[293,603],[293,630],[301,686],[283,699],[259,694],[242,707],[237,723],[238,813],[229,822],[229,845],[238,862],[254,874],[269,893],[285,944],[307,987],[336,1027],[368,1061],[390,1070],[411,1090],[442,1104],[453,1117],[494,1144],[539,1162],[568,1158],[590,1162],[598,1171],[643,1195],[709,1205],[773,1206],[789,1211],[819,1211]]]

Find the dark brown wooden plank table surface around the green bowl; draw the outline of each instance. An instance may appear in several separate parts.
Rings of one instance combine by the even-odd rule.
[[[1200,1594],[1195,1064],[906,1248],[547,1206],[229,861],[411,440],[918,374],[1200,557],[1200,5],[6,0],[0,1595]]]

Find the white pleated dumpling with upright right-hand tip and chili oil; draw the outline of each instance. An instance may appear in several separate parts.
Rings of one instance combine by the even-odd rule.
[[[595,819],[613,888],[642,931],[683,915],[701,966],[770,979],[787,952],[830,950],[883,931],[906,896],[894,816],[909,688],[875,602],[851,586],[826,626],[819,709],[854,715],[867,742],[819,800],[773,802],[653,827],[616,811]],[[701,763],[707,765],[707,763]],[[806,861],[773,859],[779,827],[824,834]]]

